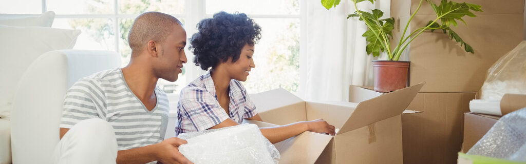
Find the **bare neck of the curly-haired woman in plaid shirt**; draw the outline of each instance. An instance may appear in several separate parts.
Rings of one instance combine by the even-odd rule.
[[[228,86],[230,85],[230,80],[232,80],[232,78],[228,76],[227,71],[221,68],[213,68],[210,70],[210,74],[212,80],[214,81],[216,95],[218,97],[228,96]]]

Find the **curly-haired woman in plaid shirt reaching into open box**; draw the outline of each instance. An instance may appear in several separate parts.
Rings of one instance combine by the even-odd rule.
[[[190,38],[194,63],[210,71],[181,90],[176,135],[240,124],[243,119],[262,121],[248,97],[245,81],[254,64],[254,45],[261,27],[242,13],[219,12],[201,20],[199,32]],[[260,128],[272,143],[304,131],[335,135],[335,127],[323,119]]]

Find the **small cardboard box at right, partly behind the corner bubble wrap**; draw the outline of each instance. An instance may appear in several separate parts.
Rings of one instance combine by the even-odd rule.
[[[498,116],[466,112],[466,114],[464,114],[464,141],[462,143],[462,152],[468,152],[499,119],[500,117]]]

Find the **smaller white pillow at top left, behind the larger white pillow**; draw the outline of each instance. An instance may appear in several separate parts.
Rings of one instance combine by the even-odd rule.
[[[0,14],[0,25],[51,27],[53,19],[55,19],[55,12],[52,11],[29,16]]]

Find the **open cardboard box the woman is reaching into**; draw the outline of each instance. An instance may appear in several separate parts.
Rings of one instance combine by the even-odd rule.
[[[280,163],[403,163],[402,112],[424,84],[360,103],[305,101],[284,89],[250,95],[262,120],[259,127],[323,118],[335,136],[306,131],[278,142]]]

